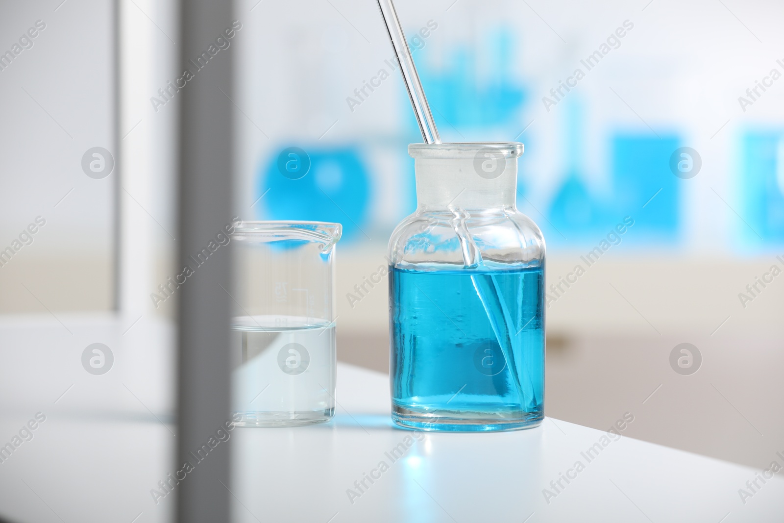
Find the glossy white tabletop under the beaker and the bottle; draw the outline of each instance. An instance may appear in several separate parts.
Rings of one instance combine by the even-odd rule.
[[[0,463],[0,519],[168,521],[173,496],[156,504],[150,491],[176,470],[171,328],[64,323],[73,334],[53,321],[0,325],[0,445],[46,416]],[[96,341],[114,350],[103,376],[79,360]],[[763,482],[760,470],[550,418],[495,434],[401,430],[387,376],[352,365],[338,366],[337,400],[330,423],[230,433],[233,478],[216,488],[230,488],[234,521],[784,519],[781,474]]]

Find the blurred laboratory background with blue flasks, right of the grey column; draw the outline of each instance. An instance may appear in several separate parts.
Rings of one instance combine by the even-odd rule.
[[[373,2],[256,2],[239,9],[265,14],[239,37],[238,212],[343,223],[339,358],[386,372],[386,280],[365,281],[416,207],[406,146],[422,141],[394,53]],[[517,206],[548,248],[548,416],[602,428],[630,411],[633,437],[769,463],[784,443],[770,415],[784,400],[782,6],[397,3],[442,139],[525,145]],[[302,179],[278,170],[287,147],[310,158]],[[680,343],[699,372],[671,367]]]

